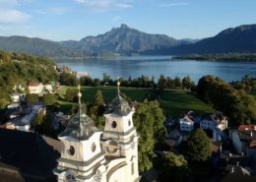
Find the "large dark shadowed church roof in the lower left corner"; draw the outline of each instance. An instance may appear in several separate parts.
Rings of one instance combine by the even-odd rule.
[[[28,181],[32,178],[30,175],[45,179],[54,176],[52,169],[57,166],[56,160],[60,156],[58,149],[62,149],[61,142],[32,132],[0,129],[0,144],[0,167],[17,170],[28,176]]]

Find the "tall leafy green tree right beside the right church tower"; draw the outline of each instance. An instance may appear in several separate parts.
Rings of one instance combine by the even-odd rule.
[[[162,131],[165,132],[163,127],[164,116],[159,102],[147,101],[140,103],[133,120],[140,135],[139,170],[143,172],[153,167],[153,160],[156,156],[155,146],[162,136]]]

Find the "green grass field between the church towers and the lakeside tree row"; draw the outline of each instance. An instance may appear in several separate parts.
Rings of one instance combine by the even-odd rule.
[[[59,94],[64,97],[65,91],[68,87],[64,87]],[[71,88],[76,89],[76,88]],[[83,94],[83,102],[94,102],[96,91],[102,91],[105,103],[111,101],[116,95],[116,87],[82,87],[81,92]],[[120,88],[120,91],[124,92],[132,100],[143,101],[148,94],[152,92],[151,89],[137,89],[137,88]],[[60,101],[63,110],[66,112],[71,109],[72,102]],[[194,110],[197,113],[209,113],[214,112],[214,109],[199,100],[193,93],[188,91],[163,91],[160,94],[160,106],[164,110],[166,116],[179,116],[183,111]]]

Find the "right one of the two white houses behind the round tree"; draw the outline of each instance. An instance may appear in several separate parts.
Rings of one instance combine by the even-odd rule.
[[[224,137],[224,129],[227,128],[228,118],[222,112],[204,117],[200,122],[200,128],[203,130],[211,130],[213,132],[214,141],[222,141]]]

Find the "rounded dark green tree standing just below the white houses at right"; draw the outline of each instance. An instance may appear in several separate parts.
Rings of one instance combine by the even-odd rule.
[[[197,129],[187,140],[186,154],[191,160],[205,161],[211,156],[211,141],[204,130]]]

